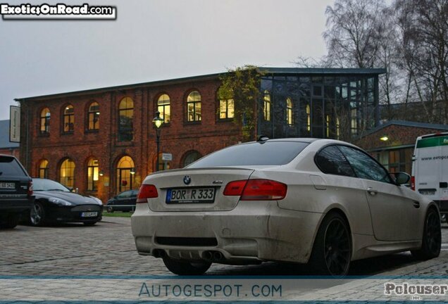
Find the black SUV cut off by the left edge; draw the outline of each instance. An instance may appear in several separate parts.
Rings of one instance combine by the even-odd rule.
[[[32,179],[14,156],[0,154],[0,228],[14,228],[32,208]]]

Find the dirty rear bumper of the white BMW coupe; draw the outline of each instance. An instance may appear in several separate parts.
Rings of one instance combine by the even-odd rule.
[[[230,211],[154,212],[137,204],[132,234],[142,255],[247,264],[264,260],[308,262],[321,213],[244,201]]]

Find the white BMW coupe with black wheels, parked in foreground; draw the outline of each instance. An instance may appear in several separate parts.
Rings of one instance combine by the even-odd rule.
[[[343,141],[261,138],[146,177],[132,234],[180,275],[279,261],[340,277],[362,258],[435,258],[439,210],[407,182]]]

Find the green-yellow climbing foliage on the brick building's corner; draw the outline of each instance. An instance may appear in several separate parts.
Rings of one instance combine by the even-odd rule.
[[[244,141],[254,138],[261,76],[262,73],[255,66],[244,65],[235,70],[228,70],[228,73],[220,77],[222,85],[218,90],[219,99],[233,99],[233,122],[242,128]]]

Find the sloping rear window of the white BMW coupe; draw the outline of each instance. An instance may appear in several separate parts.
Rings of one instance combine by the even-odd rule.
[[[244,165],[285,165],[309,143],[301,141],[265,141],[240,144],[211,153],[188,168],[228,167]]]

